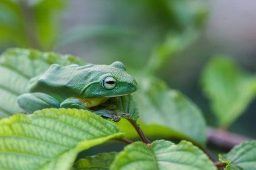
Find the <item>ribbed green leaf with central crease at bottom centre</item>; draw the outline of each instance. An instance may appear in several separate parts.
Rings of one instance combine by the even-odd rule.
[[[216,170],[210,159],[190,142],[156,140],[151,146],[135,142],[117,155],[111,169]]]

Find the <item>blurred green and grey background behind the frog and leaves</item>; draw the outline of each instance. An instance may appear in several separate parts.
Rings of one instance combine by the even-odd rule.
[[[0,51],[35,48],[97,64],[121,60],[130,73],[153,65],[158,77],[189,96],[215,126],[201,90],[202,69],[215,54],[228,54],[255,72],[255,7],[253,0],[1,0]],[[256,101],[231,131],[256,138],[255,110]]]

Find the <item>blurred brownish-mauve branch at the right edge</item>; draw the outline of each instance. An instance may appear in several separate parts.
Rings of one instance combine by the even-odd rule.
[[[251,138],[240,136],[238,134],[233,134],[227,130],[208,128],[207,130],[208,144],[230,150],[237,144],[245,142],[246,140],[251,140]]]

